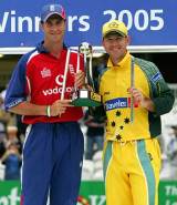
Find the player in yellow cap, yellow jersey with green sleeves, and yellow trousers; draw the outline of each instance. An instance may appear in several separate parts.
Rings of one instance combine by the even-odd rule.
[[[129,54],[123,22],[106,22],[102,34],[110,55],[98,81],[107,117],[106,205],[157,205],[160,151],[156,136],[174,94],[154,63]]]

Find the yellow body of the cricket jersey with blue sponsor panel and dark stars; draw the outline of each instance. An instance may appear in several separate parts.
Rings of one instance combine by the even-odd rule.
[[[100,81],[100,94],[103,98],[107,115],[106,139],[131,141],[150,139],[148,111],[134,105],[134,122],[131,123],[131,63],[132,55],[114,66],[108,60],[107,70]],[[149,84],[143,70],[135,63],[135,88],[149,96]]]

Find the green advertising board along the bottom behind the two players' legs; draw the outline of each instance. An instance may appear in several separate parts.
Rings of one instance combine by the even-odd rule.
[[[177,182],[160,182],[158,204],[177,205]],[[0,205],[20,205],[19,182],[0,182]],[[77,205],[106,205],[103,182],[82,182]]]

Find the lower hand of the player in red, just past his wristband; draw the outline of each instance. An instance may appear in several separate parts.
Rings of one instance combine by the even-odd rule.
[[[66,107],[73,106],[71,100],[58,100],[51,105],[51,116],[61,116],[65,113]]]

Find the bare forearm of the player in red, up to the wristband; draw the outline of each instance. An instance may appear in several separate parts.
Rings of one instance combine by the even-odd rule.
[[[30,102],[22,102],[10,107],[9,111],[20,115],[46,115],[46,105],[37,105]]]

